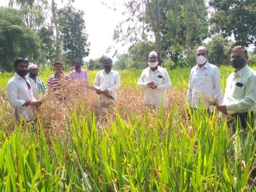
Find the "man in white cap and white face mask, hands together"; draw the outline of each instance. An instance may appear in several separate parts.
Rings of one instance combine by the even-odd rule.
[[[144,103],[154,109],[167,107],[166,90],[171,87],[171,80],[165,68],[158,66],[158,57],[155,51],[151,51],[148,57],[149,67],[144,69],[138,80],[138,87],[144,91]]]

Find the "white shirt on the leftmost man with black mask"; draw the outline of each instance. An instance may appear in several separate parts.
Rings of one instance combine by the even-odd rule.
[[[7,84],[7,97],[10,104],[15,108],[16,118],[20,120],[24,116],[24,121],[34,119],[34,108],[32,106],[22,107],[26,101],[36,101],[33,96],[32,86],[29,78],[26,81],[15,74]],[[27,82],[27,83],[26,83]],[[30,85],[30,88],[28,87]]]

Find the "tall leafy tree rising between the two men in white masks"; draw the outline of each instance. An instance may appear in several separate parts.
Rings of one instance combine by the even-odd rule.
[[[169,0],[162,6],[163,51],[176,65],[180,65],[180,55],[186,55],[182,65],[191,65],[196,46],[208,36],[205,1]]]

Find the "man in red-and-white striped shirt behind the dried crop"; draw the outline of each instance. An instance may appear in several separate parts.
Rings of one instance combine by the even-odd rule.
[[[54,63],[54,71],[55,74],[49,76],[47,87],[52,88],[55,87],[55,85],[59,84],[60,79],[68,80],[69,76],[66,74],[63,74],[62,72],[62,63],[61,62],[55,62]]]

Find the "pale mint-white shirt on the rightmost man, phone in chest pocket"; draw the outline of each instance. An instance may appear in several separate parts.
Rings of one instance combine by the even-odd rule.
[[[248,65],[227,77],[223,104],[227,113],[244,113],[256,108],[256,73]]]

